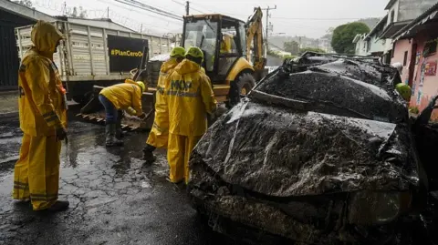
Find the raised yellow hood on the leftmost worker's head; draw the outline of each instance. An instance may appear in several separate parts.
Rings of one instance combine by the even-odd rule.
[[[39,20],[32,28],[31,36],[36,50],[47,57],[53,56],[57,41],[62,39],[62,34],[55,26],[42,20]]]

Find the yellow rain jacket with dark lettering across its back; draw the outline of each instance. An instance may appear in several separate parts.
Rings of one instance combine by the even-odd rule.
[[[184,59],[166,80],[169,107],[169,132],[183,136],[202,136],[207,129],[206,113],[216,109],[216,99],[201,66]]]

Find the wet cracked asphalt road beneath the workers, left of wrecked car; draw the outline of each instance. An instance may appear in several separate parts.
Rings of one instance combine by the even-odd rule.
[[[105,148],[102,126],[69,118],[59,199],[70,209],[47,214],[11,198],[22,134],[17,116],[0,117],[0,244],[238,244],[208,229],[185,190],[167,182],[164,151],[143,166],[147,133]]]

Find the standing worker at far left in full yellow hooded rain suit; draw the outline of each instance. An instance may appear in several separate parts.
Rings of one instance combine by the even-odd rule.
[[[33,47],[18,71],[20,128],[24,133],[14,170],[14,199],[34,210],[68,209],[57,200],[61,141],[67,137],[67,101],[53,54],[62,35],[47,22],[32,28]]]

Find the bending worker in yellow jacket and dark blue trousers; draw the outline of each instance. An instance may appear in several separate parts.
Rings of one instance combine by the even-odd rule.
[[[143,119],[146,115],[141,110],[141,95],[147,91],[143,82],[134,82],[126,79],[125,83],[103,88],[99,93],[99,101],[105,107],[105,145],[107,147],[120,146],[123,140],[116,138],[121,123],[122,110],[130,115]],[[121,128],[120,128],[121,129]]]

